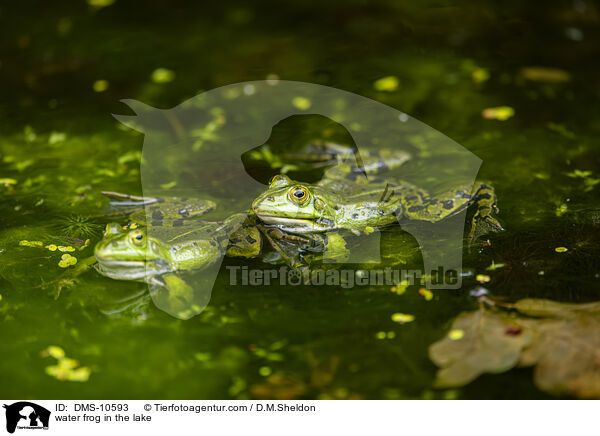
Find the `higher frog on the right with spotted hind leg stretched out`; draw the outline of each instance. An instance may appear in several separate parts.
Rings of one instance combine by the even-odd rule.
[[[356,183],[337,177],[336,171],[329,177],[326,172],[317,184],[277,175],[253,202],[252,210],[267,225],[310,237],[341,230],[360,235],[403,221],[436,223],[476,204],[469,244],[480,224],[492,231],[503,230],[492,216],[496,211],[494,190],[485,184],[474,190],[459,186],[434,196],[407,182],[373,178],[372,183]]]

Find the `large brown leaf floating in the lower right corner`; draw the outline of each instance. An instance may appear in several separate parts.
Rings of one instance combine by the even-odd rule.
[[[431,345],[439,387],[535,366],[534,382],[545,392],[600,398],[600,303],[524,299],[504,307],[513,311],[482,305],[462,313],[451,334]]]

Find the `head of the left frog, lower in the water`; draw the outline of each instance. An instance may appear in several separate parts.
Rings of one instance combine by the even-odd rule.
[[[123,230],[109,224],[94,255],[99,271],[118,280],[142,280],[171,270],[168,249],[141,228]]]

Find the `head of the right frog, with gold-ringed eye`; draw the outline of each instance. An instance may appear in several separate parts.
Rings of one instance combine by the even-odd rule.
[[[266,224],[292,233],[323,232],[334,228],[339,198],[320,186],[295,182],[285,175],[271,179],[269,188],[252,203]]]

